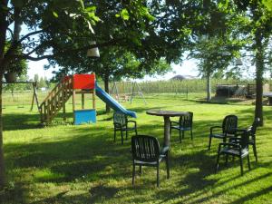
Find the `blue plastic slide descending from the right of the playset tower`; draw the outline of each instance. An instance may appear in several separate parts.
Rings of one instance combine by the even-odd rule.
[[[107,92],[103,91],[100,86],[95,83],[95,92],[96,95],[105,103],[107,103],[115,112],[122,112],[126,115],[130,115],[133,118],[136,118],[136,112],[131,112],[126,110],[124,107],[121,106],[119,102],[116,102],[111,95]]]

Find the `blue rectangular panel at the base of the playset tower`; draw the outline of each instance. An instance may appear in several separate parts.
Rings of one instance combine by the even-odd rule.
[[[74,114],[74,124],[81,123],[95,123],[96,122],[96,112],[94,109],[77,110],[73,112]]]

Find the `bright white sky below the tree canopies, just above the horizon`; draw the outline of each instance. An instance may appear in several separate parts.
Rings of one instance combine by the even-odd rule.
[[[34,74],[38,74],[39,77],[46,77],[48,80],[53,77],[53,68],[49,70],[44,70],[44,64],[47,64],[47,60],[42,60],[38,62],[29,61],[28,62],[28,71],[27,75],[29,79],[34,79]],[[175,75],[191,75],[191,76],[198,76],[199,72],[197,70],[197,64],[193,60],[185,61],[182,64],[172,64],[172,71],[166,73],[163,76],[153,76],[149,77],[146,76],[143,80],[144,81],[156,81],[156,80],[169,80]]]

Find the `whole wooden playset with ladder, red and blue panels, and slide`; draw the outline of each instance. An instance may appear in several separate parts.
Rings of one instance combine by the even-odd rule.
[[[76,94],[82,95],[82,109],[76,108]],[[85,94],[92,94],[92,109],[85,109]],[[73,123],[96,122],[95,95],[107,103],[114,111],[122,112],[136,118],[136,113],[126,110],[119,102],[102,90],[95,82],[95,74],[74,74],[65,76],[44,99],[39,106],[41,122],[50,123],[58,112],[66,112],[65,103],[73,97]]]

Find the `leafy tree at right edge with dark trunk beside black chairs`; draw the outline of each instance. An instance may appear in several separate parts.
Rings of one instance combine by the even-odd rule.
[[[250,44],[246,49],[252,53],[252,63],[256,67],[256,106],[255,117],[263,125],[263,80],[269,64],[269,40],[272,34],[272,10],[269,1],[237,1],[238,9],[244,12],[246,21],[245,35]]]

